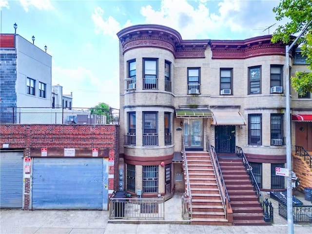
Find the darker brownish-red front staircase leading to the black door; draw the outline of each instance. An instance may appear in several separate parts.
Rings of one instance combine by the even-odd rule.
[[[240,158],[218,158],[230,197],[234,225],[271,225],[263,220],[262,208]]]

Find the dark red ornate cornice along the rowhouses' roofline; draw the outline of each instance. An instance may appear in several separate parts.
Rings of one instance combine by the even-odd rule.
[[[157,24],[139,24],[117,33],[123,53],[144,47],[170,51],[175,58],[205,58],[209,45],[212,59],[247,59],[256,56],[285,56],[284,43],[272,43],[272,35],[244,40],[182,40],[174,29]],[[291,55],[291,53],[290,53]]]

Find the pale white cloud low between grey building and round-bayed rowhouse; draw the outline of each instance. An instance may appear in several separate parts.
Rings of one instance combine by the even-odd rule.
[[[73,92],[73,107],[87,108],[105,102],[119,109],[119,84],[117,72],[113,77],[97,77],[85,67],[75,69],[53,65],[52,85],[63,87],[63,94]]]

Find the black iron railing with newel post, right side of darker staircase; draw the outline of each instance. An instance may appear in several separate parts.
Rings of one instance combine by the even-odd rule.
[[[243,165],[245,167],[246,172],[249,175],[249,178],[251,180],[252,185],[254,186],[254,192],[256,193],[258,197],[258,202],[260,202],[260,206],[262,208],[262,213],[264,215],[264,221],[265,222],[273,222],[273,206],[272,202],[268,201],[268,198],[263,198],[261,191],[259,189],[258,183],[254,177],[253,171],[251,170],[252,167],[249,165],[247,158],[243,152],[243,149],[236,146],[236,156],[240,157],[242,159]]]

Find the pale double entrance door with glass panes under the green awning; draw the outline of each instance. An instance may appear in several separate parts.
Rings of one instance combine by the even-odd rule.
[[[185,148],[202,149],[202,119],[184,119],[184,146]]]

